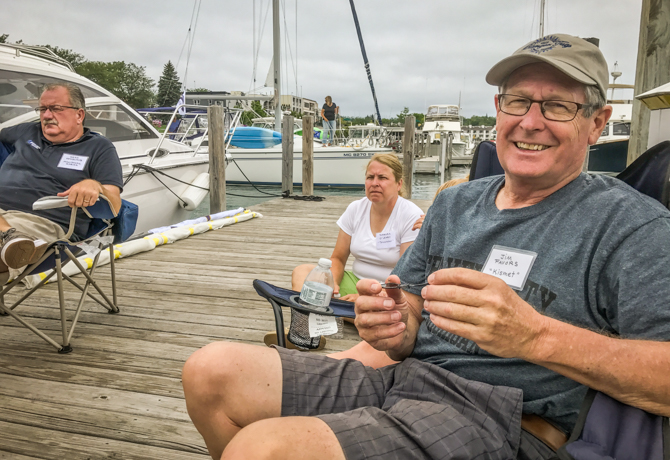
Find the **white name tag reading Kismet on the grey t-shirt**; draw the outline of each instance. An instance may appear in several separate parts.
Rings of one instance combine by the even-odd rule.
[[[523,290],[537,253],[522,249],[493,246],[482,273],[503,280],[509,287]]]

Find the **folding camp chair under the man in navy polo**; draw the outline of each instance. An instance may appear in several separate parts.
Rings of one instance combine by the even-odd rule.
[[[53,209],[57,207],[67,206],[67,198],[61,197],[46,197],[41,198],[33,204],[33,209]],[[72,347],[70,346],[70,340],[72,339],[72,334],[74,333],[74,328],[79,320],[79,315],[81,313],[82,307],[84,305],[84,300],[89,297],[95,300],[97,303],[102,305],[108,313],[118,313],[119,308],[117,306],[117,296],[116,296],[116,276],[114,270],[114,243],[120,242],[120,240],[127,238],[130,234],[133,233],[135,228],[135,222],[137,220],[137,206],[127,201],[123,201],[121,210],[117,214],[114,211],[112,204],[109,200],[100,195],[100,199],[93,205],[86,208],[81,208],[84,213],[89,217],[93,218],[93,221],[90,225],[90,234],[89,236],[79,242],[73,242],[70,240],[72,233],[74,232],[75,222],[77,219],[77,210],[80,208],[72,208],[72,213],[70,217],[70,226],[67,234],[60,240],[49,243],[49,246],[40,258],[39,261],[27,267],[25,271],[18,276],[15,280],[7,284],[0,291],[0,315],[6,316],[9,315],[12,318],[16,319],[23,326],[27,327],[39,337],[44,339],[47,343],[52,345],[58,350],[59,353],[70,353]],[[115,223],[117,225],[115,225]],[[92,229],[92,230],[91,230]],[[113,233],[113,230],[117,230]],[[125,232],[125,233],[124,233]],[[87,267],[82,265],[82,263],[77,260],[77,256],[85,253],[83,250],[84,247],[91,248],[93,246],[98,246],[100,249],[99,252],[95,255],[95,258],[92,261],[90,266],[90,273],[87,271]],[[95,271],[98,266],[98,261],[103,251],[109,250],[109,262],[111,269],[111,281],[112,281],[112,299],[102,291],[98,284],[93,279]],[[67,259],[63,262],[62,256],[65,254]],[[74,281],[70,276],[63,273],[62,267],[66,263],[72,262],[79,270],[79,272],[84,275],[86,278],[86,284],[82,287],[79,283]],[[51,270],[51,273],[47,274],[37,285],[31,288],[28,293],[21,296],[17,301],[15,301],[11,306],[7,306],[4,303],[4,297],[9,293],[13,288],[19,285],[21,281],[28,275],[45,273],[48,270]],[[14,312],[14,309],[18,307],[24,300],[30,297],[35,291],[44,286],[49,280],[56,275],[58,282],[58,299],[60,305],[60,320],[61,320],[61,332],[62,332],[62,343],[57,343],[55,340],[47,336],[44,332],[37,329],[34,325],[29,323],[23,317],[19,316]],[[74,315],[71,320],[71,325],[68,329],[68,321],[65,311],[65,296],[63,292],[63,280],[69,281],[73,286],[81,291],[81,297],[79,303],[74,312]],[[98,299],[96,296],[92,295],[89,290],[93,287],[98,294],[102,297],[103,300]]]

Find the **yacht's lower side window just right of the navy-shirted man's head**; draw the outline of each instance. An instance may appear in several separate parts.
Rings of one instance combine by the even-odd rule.
[[[157,137],[120,104],[88,107],[84,126],[112,142]]]

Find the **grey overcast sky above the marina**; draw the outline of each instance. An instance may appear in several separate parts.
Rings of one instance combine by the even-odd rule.
[[[297,28],[296,28],[297,2]],[[264,16],[271,0],[202,0],[187,84],[210,90],[252,87],[254,5]],[[351,8],[346,0],[282,0],[293,60],[284,92],[323,103],[343,115],[374,111]],[[356,0],[382,117],[403,107],[425,112],[430,104],[457,104],[465,116],[493,114],[495,88],[488,69],[537,38],[539,0]],[[600,38],[610,71],[615,61],[634,83],[642,0],[547,0],[545,34]],[[145,66],[158,80],[163,65],[177,63],[194,0],[14,0],[3,2],[0,34],[10,41],[69,48],[89,60]],[[263,13],[261,15],[261,12]],[[259,35],[256,20],[256,36]],[[265,81],[272,55],[271,13],[261,40],[257,81]],[[296,44],[297,29],[297,44]],[[297,48],[297,51],[296,51]],[[184,79],[186,57],[178,67]],[[296,60],[297,55],[297,60]],[[288,59],[287,59],[288,58]],[[297,62],[297,85],[293,68]]]

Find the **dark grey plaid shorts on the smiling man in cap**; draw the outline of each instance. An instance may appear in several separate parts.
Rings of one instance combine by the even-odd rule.
[[[521,430],[522,392],[408,358],[382,369],[278,348],[282,416],[328,424],[347,459],[546,459]],[[517,457],[518,455],[518,457]]]

